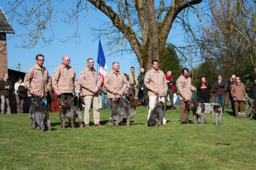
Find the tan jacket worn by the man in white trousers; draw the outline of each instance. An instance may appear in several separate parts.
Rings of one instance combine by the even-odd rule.
[[[159,96],[166,96],[168,87],[163,71],[155,71],[153,68],[147,71],[144,84],[148,88],[148,96],[156,96],[154,94],[155,90],[158,92]]]

